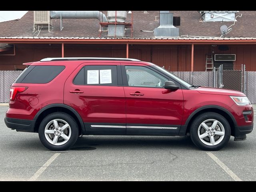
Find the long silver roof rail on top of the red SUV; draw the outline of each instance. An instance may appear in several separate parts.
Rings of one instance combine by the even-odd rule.
[[[40,61],[77,61],[77,60],[141,61],[138,59],[110,58],[110,57],[56,57],[56,58],[44,58],[44,59],[41,59]]]

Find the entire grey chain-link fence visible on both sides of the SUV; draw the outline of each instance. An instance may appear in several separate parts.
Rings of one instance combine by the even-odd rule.
[[[256,103],[256,71],[217,70],[216,72],[172,72],[185,81],[199,86],[228,88],[244,92]],[[236,68],[237,69],[237,68]],[[239,69],[239,68],[238,68]],[[0,103],[9,102],[10,86],[22,71],[0,71]]]

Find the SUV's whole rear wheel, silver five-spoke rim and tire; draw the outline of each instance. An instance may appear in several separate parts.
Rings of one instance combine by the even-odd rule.
[[[54,151],[67,150],[78,138],[78,124],[72,116],[56,112],[46,116],[40,123],[38,134],[42,144]]]

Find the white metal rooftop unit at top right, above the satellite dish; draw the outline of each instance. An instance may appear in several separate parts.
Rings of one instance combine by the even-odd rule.
[[[238,11],[198,11],[204,22],[209,21],[236,21],[235,14]]]

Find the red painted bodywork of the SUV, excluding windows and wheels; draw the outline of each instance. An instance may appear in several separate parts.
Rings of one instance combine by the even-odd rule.
[[[31,64],[31,63],[30,63]],[[222,107],[236,120],[237,126],[250,126],[253,123],[251,105],[238,106],[229,96],[245,96],[242,92],[217,88],[196,88],[166,90],[129,86],[91,86],[72,83],[76,74],[86,65],[136,65],[150,66],[147,62],[130,61],[58,61],[34,62],[31,65],[59,65],[65,69],[49,83],[12,86],[28,87],[17,93],[7,118],[33,120],[39,110],[50,104],[66,104],[72,107],[83,122],[112,124],[158,124],[185,125],[190,115],[198,108],[214,105]],[[73,91],[80,93],[75,94]],[[71,92],[70,92],[71,91]],[[131,95],[140,93],[141,95]],[[38,98],[38,104],[31,104],[30,98]],[[248,121],[243,111],[251,110]]]

